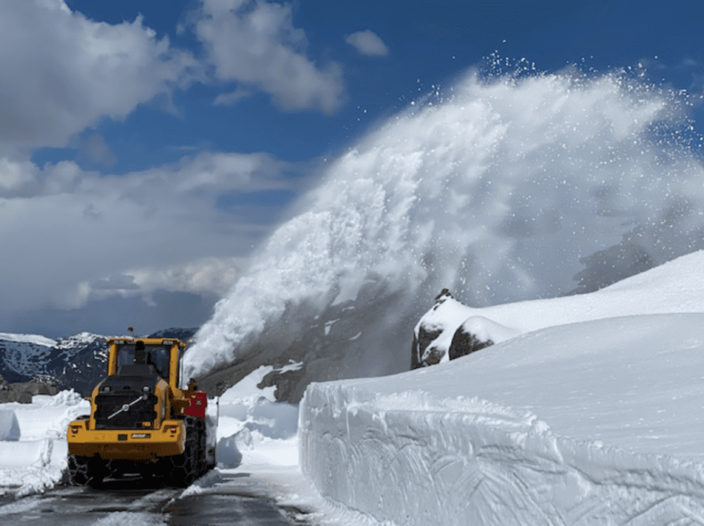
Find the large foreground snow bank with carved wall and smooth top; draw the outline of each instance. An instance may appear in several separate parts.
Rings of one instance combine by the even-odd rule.
[[[703,325],[575,323],[311,384],[301,468],[327,499],[397,525],[700,523]]]

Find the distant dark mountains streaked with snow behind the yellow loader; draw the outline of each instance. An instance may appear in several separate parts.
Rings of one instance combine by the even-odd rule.
[[[145,338],[178,338],[188,342],[198,328],[168,328]],[[79,333],[53,340],[37,334],[0,333],[0,376],[10,383],[32,378],[56,381],[62,389],[88,394],[106,376],[108,338]]]

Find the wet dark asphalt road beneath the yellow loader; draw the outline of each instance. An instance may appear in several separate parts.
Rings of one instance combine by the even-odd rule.
[[[209,482],[202,493],[183,498],[179,498],[182,489],[163,487],[157,477],[108,480],[100,490],[64,486],[16,500],[2,496],[0,525],[142,526],[139,521],[145,520],[173,526],[307,524],[300,519],[305,511],[280,508],[271,499],[256,496],[245,473],[220,474]]]

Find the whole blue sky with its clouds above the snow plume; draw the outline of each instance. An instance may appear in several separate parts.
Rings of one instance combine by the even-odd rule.
[[[5,332],[203,323],[327,162],[495,51],[546,72],[641,64],[656,84],[704,84],[693,0],[0,10]]]

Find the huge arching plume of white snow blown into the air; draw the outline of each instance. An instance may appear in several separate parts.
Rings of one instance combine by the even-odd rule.
[[[688,105],[622,72],[437,88],[330,163],[196,334],[186,376],[266,353],[241,375],[287,354],[308,380],[404,371],[441,288],[477,307],[556,297],[702,248]],[[308,370],[333,352],[341,370]]]

